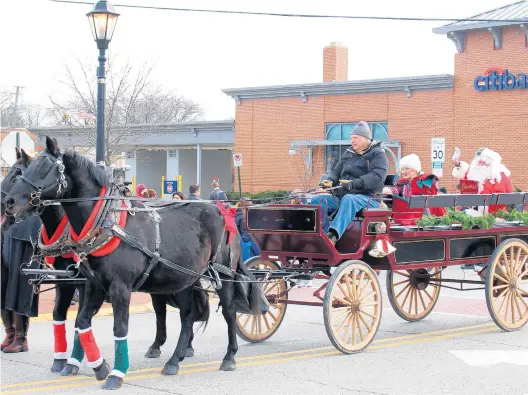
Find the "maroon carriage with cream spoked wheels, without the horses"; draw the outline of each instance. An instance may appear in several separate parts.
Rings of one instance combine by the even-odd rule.
[[[412,196],[408,210],[518,206],[527,201],[527,193]],[[497,223],[490,229],[463,229],[460,224],[404,226],[394,220],[390,208],[365,209],[334,247],[323,231],[321,206],[272,204],[249,207],[247,228],[261,250],[259,257],[246,262],[257,278],[280,279],[297,273],[296,278],[325,281],[313,292],[317,301],[289,298],[294,281],[268,284],[268,313],[237,316],[238,334],[246,341],[270,338],[282,323],[287,305],[298,304],[323,306],[326,331],[338,350],[365,349],[376,335],[382,314],[381,287],[374,269],[387,271],[388,299],[404,320],[425,318],[441,287],[458,283],[485,289],[490,315],[501,329],[519,330],[528,322],[528,226],[520,221]],[[392,253],[381,257],[369,254],[379,240],[396,250],[391,248]],[[446,267],[463,264],[483,265],[482,280],[443,278]]]

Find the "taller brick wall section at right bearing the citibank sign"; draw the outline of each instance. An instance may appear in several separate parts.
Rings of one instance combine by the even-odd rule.
[[[494,49],[491,34],[467,35],[465,50],[455,55],[454,134],[463,159],[481,146],[499,152],[513,183],[528,189],[528,90],[479,92],[473,80],[491,67],[528,73],[528,48],[520,28],[503,31],[502,48]],[[448,145],[448,149],[452,148]]]

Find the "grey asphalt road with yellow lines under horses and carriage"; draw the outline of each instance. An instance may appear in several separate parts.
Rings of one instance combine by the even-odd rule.
[[[463,275],[458,268],[448,270]],[[130,320],[130,370],[121,393],[528,394],[528,326],[519,332],[502,332],[484,311],[483,298],[483,291],[443,289],[438,311],[417,323],[401,320],[385,299],[376,340],[355,355],[333,348],[322,308],[289,306],[281,328],[267,342],[239,341],[235,372],[218,370],[227,331],[221,312],[213,312],[207,330],[195,337],[196,355],[186,359],[179,375],[172,377],[161,376],[160,371],[176,345],[178,313],[168,314],[170,334],[160,359],[143,356],[154,337],[154,315],[135,314]],[[112,325],[111,317],[93,322],[110,365]],[[68,328],[72,333],[71,323]],[[95,381],[85,363],[77,377],[62,378],[49,371],[52,332],[51,323],[34,324],[29,353],[2,354],[2,394],[103,392],[102,383]]]

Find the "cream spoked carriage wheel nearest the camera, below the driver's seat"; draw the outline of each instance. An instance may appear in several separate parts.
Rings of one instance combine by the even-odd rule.
[[[323,302],[326,333],[345,354],[365,349],[381,321],[381,287],[366,263],[346,261],[330,277]]]

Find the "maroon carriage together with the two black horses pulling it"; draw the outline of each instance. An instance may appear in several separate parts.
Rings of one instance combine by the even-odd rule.
[[[215,285],[228,326],[229,345],[222,370],[236,368],[235,331],[251,342],[268,339],[279,328],[288,304],[323,306],[326,330],[334,346],[344,353],[365,349],[381,321],[379,270],[387,270],[389,301],[405,320],[425,318],[433,310],[440,288],[460,283],[485,285],[490,314],[502,329],[518,330],[528,322],[528,226],[524,221],[505,221],[490,229],[465,229],[456,223],[424,227],[398,223],[391,208],[365,209],[334,245],[323,230],[319,205],[253,206],[247,208],[246,225],[261,256],[246,262],[251,269],[247,272],[240,265],[236,267],[240,255],[239,246],[233,242],[237,240],[236,226],[221,204],[145,204],[128,196],[123,185],[112,182],[86,158],[60,151],[56,141],[49,138],[38,158],[30,160],[23,155],[21,160],[26,168],[15,169],[17,172],[10,176],[12,189],[3,197],[8,213],[15,219],[37,213],[48,228],[44,214],[53,211],[57,242],[45,243],[46,248],[53,248],[42,257],[57,256],[73,264],[67,266],[66,262],[63,273],[54,271],[55,275],[71,277],[75,267],[87,279],[84,303],[76,319],[74,351],[64,369],[67,375],[78,371],[84,353],[73,356],[77,345],[79,351],[86,351],[96,378],[106,379],[107,389],[119,388],[128,371],[128,308],[136,291],[179,295],[180,338],[162,373],[178,372],[179,362],[189,352],[193,323],[206,321],[209,315],[208,299],[197,296],[203,295],[197,284],[200,278]],[[374,197],[378,198],[384,199]],[[428,208],[524,206],[527,202],[527,193],[412,196],[407,209],[416,215]],[[68,232],[60,230],[64,218],[71,228]],[[69,252],[74,255],[66,258]],[[443,278],[447,266],[468,263],[484,265],[479,272],[482,281]],[[290,299],[295,280],[306,278],[326,280],[313,293],[318,301]],[[241,312],[236,298],[244,294],[239,286],[244,282],[261,285],[269,306],[261,309],[256,303]],[[112,371],[91,329],[93,315],[108,296],[114,310]],[[165,309],[166,301],[161,303]],[[165,316],[163,310],[154,308]],[[166,339],[161,323],[147,355],[160,355],[159,347]],[[62,336],[65,338],[65,332]]]

